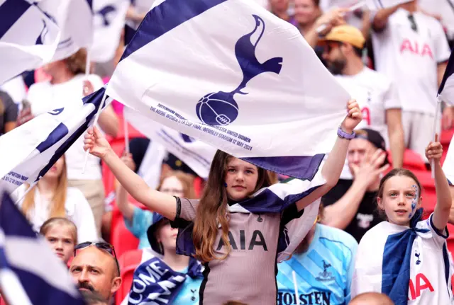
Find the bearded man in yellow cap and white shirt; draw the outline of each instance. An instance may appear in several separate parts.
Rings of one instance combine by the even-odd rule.
[[[361,107],[363,119],[358,128],[379,132],[385,147],[391,149],[394,168],[400,168],[404,159],[401,103],[394,84],[363,64],[364,43],[361,31],[352,25],[338,25],[320,40],[328,69]],[[341,178],[353,178],[347,165]]]

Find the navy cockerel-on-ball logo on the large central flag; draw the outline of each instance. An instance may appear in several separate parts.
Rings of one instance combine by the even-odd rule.
[[[265,72],[279,74],[282,69],[282,57],[274,57],[260,63],[255,56],[255,48],[265,32],[265,22],[259,16],[253,17],[254,30],[238,39],[235,45],[235,56],[243,72],[243,81],[231,92],[218,91],[206,94],[196,105],[197,116],[206,125],[225,126],[236,120],[239,108],[235,95],[248,94],[241,90],[255,76]]]

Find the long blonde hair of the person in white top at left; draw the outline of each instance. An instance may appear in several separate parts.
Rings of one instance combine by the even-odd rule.
[[[50,205],[49,211],[49,218],[52,217],[66,217],[65,211],[65,202],[66,202],[66,194],[68,188],[68,178],[67,178],[67,171],[66,171],[66,161],[65,156],[63,158],[63,170],[60,177],[58,177],[57,188],[55,188],[55,193],[52,197],[52,202]],[[39,183],[39,182],[38,182]],[[30,185],[28,185],[30,188]],[[38,185],[36,186],[38,188]],[[22,212],[28,217],[28,212],[35,207],[35,190],[33,188],[26,197],[23,199],[22,205]]]

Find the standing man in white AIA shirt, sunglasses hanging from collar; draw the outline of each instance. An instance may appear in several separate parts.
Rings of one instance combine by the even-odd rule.
[[[397,84],[405,145],[426,159],[435,115],[441,111],[436,107],[438,86],[450,56],[443,27],[418,11],[417,1],[408,1],[377,11],[372,29],[375,68]],[[443,129],[452,125],[453,109],[445,107]]]

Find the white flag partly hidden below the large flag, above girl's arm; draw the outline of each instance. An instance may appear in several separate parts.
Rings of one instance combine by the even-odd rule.
[[[177,156],[201,178],[208,178],[216,148],[150,120],[147,116],[131,108],[125,107],[123,115],[135,130],[151,140],[149,145],[158,143],[164,146],[165,150]]]

